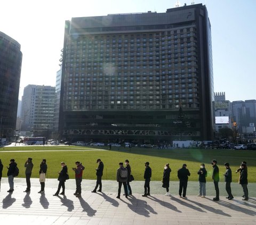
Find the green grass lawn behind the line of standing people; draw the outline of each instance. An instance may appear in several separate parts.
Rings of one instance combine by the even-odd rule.
[[[88,150],[92,151],[88,151]],[[233,181],[238,180],[238,174],[235,170],[242,161],[246,161],[249,166],[249,182],[256,182],[256,151],[244,150],[226,150],[226,149],[145,149],[145,148],[115,148],[111,151],[93,151],[95,147],[78,147],[78,146],[24,146],[24,147],[4,147],[0,148],[0,159],[4,164],[3,176],[6,176],[6,166],[10,159],[14,158],[20,169],[19,177],[25,177],[24,164],[28,157],[33,158],[34,169],[32,177],[38,177],[39,164],[42,159],[47,160],[48,178],[57,178],[60,171],[60,162],[66,162],[70,178],[74,178],[74,172],[71,170],[75,166],[75,161],[81,161],[85,166],[84,179],[95,179],[95,168],[98,164],[96,160],[100,158],[105,164],[103,179],[114,180],[119,162],[129,159],[132,168],[132,174],[136,180],[143,180],[144,163],[148,161],[152,169],[152,180],[161,180],[163,167],[165,163],[170,163],[172,169],[171,180],[178,180],[177,170],[183,163],[187,164],[191,176],[190,181],[197,181],[197,170],[203,162],[208,171],[208,181],[211,181],[211,160],[217,159],[220,169],[220,181],[223,181],[222,174],[225,172],[225,162],[230,163],[233,170]],[[107,147],[103,147],[107,149]],[[56,152],[50,152],[54,150]],[[65,152],[63,150],[71,150]],[[87,150],[81,152],[81,150]],[[95,149],[97,150],[97,149]],[[8,151],[8,152],[3,152]],[[17,151],[17,152],[12,152]],[[18,152],[32,151],[32,152]],[[39,152],[43,151],[43,152]]]

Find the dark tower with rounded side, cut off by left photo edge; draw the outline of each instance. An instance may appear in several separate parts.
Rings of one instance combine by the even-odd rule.
[[[0,32],[0,138],[14,136],[21,61],[20,44]]]

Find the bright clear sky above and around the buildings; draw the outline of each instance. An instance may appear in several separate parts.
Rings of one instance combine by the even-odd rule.
[[[7,0],[0,31],[21,44],[20,95],[29,84],[55,86],[65,20],[111,13],[165,12],[176,0]],[[179,1],[190,5],[192,0]],[[212,25],[214,91],[230,101],[256,99],[256,0],[195,0],[206,4]]]

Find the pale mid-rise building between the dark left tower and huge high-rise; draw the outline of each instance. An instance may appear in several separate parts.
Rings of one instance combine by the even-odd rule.
[[[53,129],[55,87],[28,85],[22,96],[21,119],[23,131],[46,136]],[[42,132],[44,131],[44,132]]]

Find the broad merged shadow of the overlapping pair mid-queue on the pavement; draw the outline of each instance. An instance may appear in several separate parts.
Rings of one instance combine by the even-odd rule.
[[[131,204],[125,202],[123,199],[120,199],[120,201],[127,204],[129,209],[132,210],[133,212],[139,215],[143,215],[145,217],[150,217],[150,213],[157,214],[157,212],[150,205],[148,205],[146,201],[135,198],[132,195],[129,195],[129,197],[131,197],[128,198]]]

